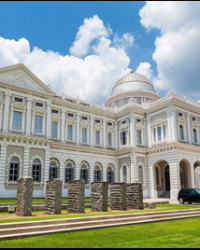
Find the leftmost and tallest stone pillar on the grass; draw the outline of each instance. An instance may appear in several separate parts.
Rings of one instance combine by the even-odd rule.
[[[32,215],[33,178],[24,177],[17,180],[16,215]]]

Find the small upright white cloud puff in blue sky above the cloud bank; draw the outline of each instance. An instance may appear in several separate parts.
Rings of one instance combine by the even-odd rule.
[[[76,56],[85,56],[90,48],[90,43],[101,37],[108,37],[112,33],[110,28],[104,26],[103,21],[97,16],[85,18],[83,25],[79,27],[76,41],[70,48],[70,53]]]

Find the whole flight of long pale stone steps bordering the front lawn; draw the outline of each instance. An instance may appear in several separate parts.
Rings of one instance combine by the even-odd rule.
[[[192,211],[193,210],[193,211]],[[180,213],[181,212],[181,213]],[[130,214],[129,214],[130,215]],[[69,231],[78,231],[78,230],[87,230],[93,228],[103,228],[107,226],[120,226],[120,225],[129,225],[129,224],[136,224],[136,223],[145,223],[145,222],[154,222],[154,221],[163,221],[169,219],[183,219],[183,218],[191,218],[191,217],[199,217],[200,211],[199,209],[191,209],[187,211],[179,210],[179,211],[168,211],[165,214],[161,212],[154,213],[146,213],[146,214],[132,214],[129,217],[116,217],[113,216],[104,216],[104,218],[96,218],[96,217],[85,217],[85,218],[78,218],[80,221],[75,221],[73,219],[69,219],[68,222],[63,220],[64,223],[60,223],[60,220],[52,220],[50,221],[51,224],[35,224],[34,226],[31,224],[25,223],[15,223],[24,224],[24,227],[11,227],[5,228],[0,230],[0,239],[8,239],[8,238],[18,238],[18,237],[27,237],[27,236],[34,236],[40,234],[49,234],[49,233],[56,233],[56,232],[69,232]],[[106,217],[106,218],[105,218]],[[83,220],[84,219],[84,220]],[[90,220],[88,220],[90,219]],[[58,223],[56,223],[58,222]],[[3,226],[3,224],[1,225]]]

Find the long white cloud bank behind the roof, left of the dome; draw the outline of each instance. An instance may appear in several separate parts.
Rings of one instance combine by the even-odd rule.
[[[0,37],[0,67],[23,63],[45,84],[50,84],[56,93],[64,92],[68,96],[79,96],[94,103],[105,103],[118,78],[130,71],[128,69],[130,59],[123,47],[112,45],[111,40],[106,37],[107,28],[97,16],[85,19],[78,31],[81,35],[77,37],[87,41],[83,46],[84,53],[91,41],[88,39],[88,34],[91,30],[95,33],[92,20],[99,23],[99,26],[96,32],[98,35],[94,36],[98,36],[98,41],[96,45],[89,47],[91,55],[79,58],[75,55],[62,56],[54,51],[46,52],[37,47],[31,50],[29,41],[25,38],[14,41]],[[90,31],[87,32],[87,28]],[[73,48],[78,48],[77,46]]]

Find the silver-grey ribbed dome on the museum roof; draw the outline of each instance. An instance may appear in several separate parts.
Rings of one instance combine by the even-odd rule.
[[[145,76],[131,72],[122,76],[116,82],[110,96],[132,91],[151,91],[156,93],[153,85]]]

